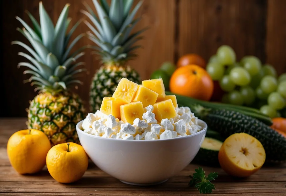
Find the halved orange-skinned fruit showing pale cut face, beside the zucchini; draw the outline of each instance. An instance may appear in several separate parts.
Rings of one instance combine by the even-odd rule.
[[[229,175],[247,177],[265,162],[265,150],[255,137],[247,133],[229,136],[219,150],[219,164]]]

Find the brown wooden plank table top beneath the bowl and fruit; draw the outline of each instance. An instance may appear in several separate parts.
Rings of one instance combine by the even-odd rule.
[[[25,118],[0,119],[0,195],[200,195],[198,190],[188,187],[188,175],[198,167],[195,164],[188,165],[163,184],[148,187],[121,183],[92,162],[82,179],[72,184],[57,183],[47,168],[34,175],[19,175],[9,163],[6,145],[15,131],[26,128],[25,121]],[[206,173],[219,172],[213,196],[286,195],[286,164],[264,166],[245,179],[231,177],[221,168],[203,168]]]

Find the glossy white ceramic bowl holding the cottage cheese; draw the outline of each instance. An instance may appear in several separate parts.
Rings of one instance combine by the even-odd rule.
[[[132,185],[162,183],[186,167],[196,156],[207,125],[198,120],[198,133],[162,140],[119,140],[76,131],[90,159],[104,172]]]

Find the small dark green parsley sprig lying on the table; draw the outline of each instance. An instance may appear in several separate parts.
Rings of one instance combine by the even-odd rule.
[[[195,185],[195,188],[198,188],[200,193],[212,193],[212,189],[215,189],[215,185],[210,181],[215,180],[218,177],[218,173],[210,172],[210,174],[206,176],[202,167],[195,169],[195,172],[196,173],[193,173],[193,176],[190,175],[190,178],[192,179],[189,182],[189,187]]]

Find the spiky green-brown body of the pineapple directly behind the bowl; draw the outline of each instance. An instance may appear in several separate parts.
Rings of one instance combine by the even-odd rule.
[[[104,65],[95,73],[90,86],[90,110],[100,109],[103,97],[112,97],[119,81],[122,78],[141,83],[137,71],[130,66]]]

